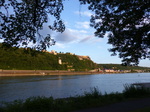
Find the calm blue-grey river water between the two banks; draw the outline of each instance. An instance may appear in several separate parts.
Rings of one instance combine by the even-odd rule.
[[[0,77],[0,102],[32,96],[65,98],[97,88],[122,92],[125,84],[150,82],[150,73]]]

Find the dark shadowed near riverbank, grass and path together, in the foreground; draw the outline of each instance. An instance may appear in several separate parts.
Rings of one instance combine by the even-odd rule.
[[[26,100],[2,103],[1,112],[126,112],[149,107],[150,90],[127,86],[123,93],[102,95],[93,88],[84,95],[63,99],[30,97]],[[85,110],[84,110],[85,109]],[[76,111],[81,110],[81,111]]]

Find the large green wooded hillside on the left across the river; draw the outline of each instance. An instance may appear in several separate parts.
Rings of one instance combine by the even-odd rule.
[[[62,64],[58,63],[61,58]],[[4,47],[0,44],[0,69],[6,70],[74,70],[86,71],[98,65],[76,55],[50,54],[30,48]]]

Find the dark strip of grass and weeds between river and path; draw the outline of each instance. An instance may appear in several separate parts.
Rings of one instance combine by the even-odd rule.
[[[25,101],[15,100],[13,102],[3,103],[3,106],[0,107],[0,112],[70,112],[149,95],[150,89],[128,85],[125,85],[123,93],[106,93],[104,95],[98,89],[93,88],[91,92],[85,92],[83,96],[77,95],[64,99],[30,97]]]

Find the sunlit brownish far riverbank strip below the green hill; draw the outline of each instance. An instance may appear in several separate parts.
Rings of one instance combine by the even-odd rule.
[[[65,70],[0,70],[2,76],[44,76],[44,75],[84,75],[99,74],[101,72],[90,71],[65,71]]]

